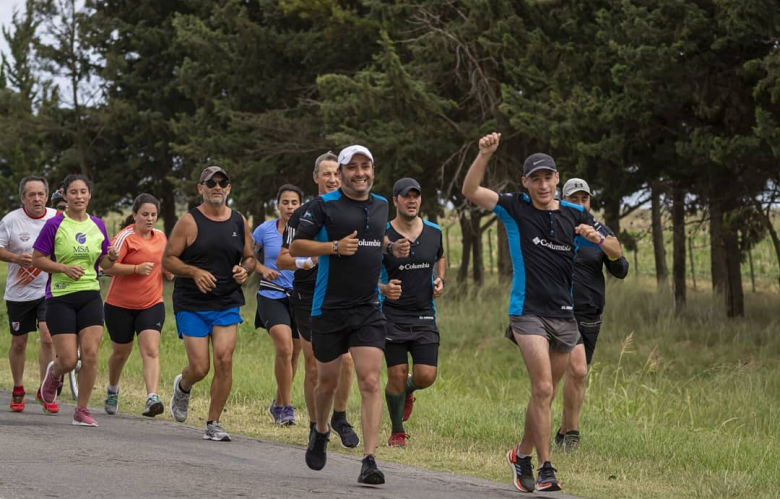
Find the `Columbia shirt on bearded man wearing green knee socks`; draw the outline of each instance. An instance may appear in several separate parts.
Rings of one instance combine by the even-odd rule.
[[[390,241],[403,239],[392,224],[387,224]],[[411,241],[410,241],[411,242]],[[427,220],[417,240],[411,242],[409,256],[384,255],[381,282],[401,281],[401,297],[383,300],[382,312],[390,322],[412,326],[436,327],[436,305],[433,301],[433,269],[444,254],[441,227]]]

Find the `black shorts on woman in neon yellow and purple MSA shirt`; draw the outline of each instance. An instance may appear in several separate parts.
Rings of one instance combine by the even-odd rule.
[[[46,300],[46,325],[52,336],[78,334],[90,326],[103,325],[100,291],[77,291]]]

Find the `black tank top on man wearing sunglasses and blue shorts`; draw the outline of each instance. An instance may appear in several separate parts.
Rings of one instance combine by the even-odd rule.
[[[241,285],[233,279],[233,266],[244,256],[244,218],[232,210],[224,222],[209,219],[199,209],[190,214],[198,226],[198,237],[182,252],[182,262],[211,272],[217,286],[203,294],[193,279],[177,277],[173,286],[173,311],[219,311],[244,306]]]

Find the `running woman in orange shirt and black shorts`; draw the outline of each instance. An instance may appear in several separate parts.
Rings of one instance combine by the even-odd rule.
[[[108,389],[103,407],[106,414],[119,409],[119,377],[133,351],[133,337],[138,335],[138,349],[143,360],[146,384],[144,416],[154,417],[164,406],[157,396],[160,381],[160,332],[165,324],[163,303],[162,255],[168,240],[154,228],[160,202],[151,194],[141,194],[133,202],[133,213],[113,241],[119,259],[106,274],[112,277],[106,295],[106,327],[113,343],[108,358]],[[165,273],[168,279],[173,279]]]

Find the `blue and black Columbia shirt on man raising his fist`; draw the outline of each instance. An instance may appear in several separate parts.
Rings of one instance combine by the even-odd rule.
[[[580,224],[607,232],[582,206],[560,201],[557,210],[539,210],[524,193],[499,194],[493,209],[506,226],[512,257],[509,315],[574,317],[572,274],[580,246],[595,246],[577,236]]]

